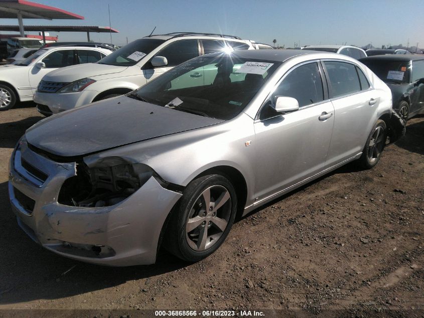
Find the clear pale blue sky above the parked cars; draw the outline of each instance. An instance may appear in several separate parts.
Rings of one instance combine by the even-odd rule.
[[[31,0],[76,13],[85,20],[24,19],[24,25],[109,26],[112,43],[124,45],[149,35],[207,32],[235,35],[272,45],[318,44],[424,47],[424,1],[394,0]],[[1,24],[18,24],[2,19]],[[1,32],[8,33],[8,32]],[[30,32],[35,34],[34,32]],[[50,35],[57,33],[51,32]],[[61,32],[60,41],[86,41],[86,33]],[[90,33],[95,42],[110,35]]]

